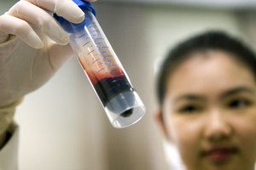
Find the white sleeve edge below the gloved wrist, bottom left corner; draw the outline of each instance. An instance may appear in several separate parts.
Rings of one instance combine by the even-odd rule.
[[[18,170],[19,127],[13,124],[9,133],[9,141],[0,150],[0,170]]]

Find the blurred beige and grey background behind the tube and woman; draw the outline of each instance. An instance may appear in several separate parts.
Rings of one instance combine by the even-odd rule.
[[[3,14],[15,0],[1,0]],[[20,170],[177,169],[154,122],[155,72],[167,50],[185,37],[223,30],[256,44],[256,0],[98,0],[96,17],[146,115],[131,127],[112,127],[76,58],[16,111]],[[256,47],[255,47],[256,48]]]

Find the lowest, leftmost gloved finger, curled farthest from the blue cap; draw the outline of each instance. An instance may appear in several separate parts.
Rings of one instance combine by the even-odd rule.
[[[33,31],[32,27],[25,21],[3,14],[0,17],[0,31],[5,34],[13,34],[24,42],[26,42],[32,48],[43,48],[44,43],[38,37],[37,33]]]

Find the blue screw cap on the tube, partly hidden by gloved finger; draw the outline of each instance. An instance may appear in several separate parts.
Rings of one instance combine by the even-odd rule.
[[[83,0],[73,0],[73,2],[76,3],[79,6],[79,8],[81,8],[84,11],[84,13],[86,13],[87,11],[90,11],[92,14],[96,15],[96,10],[91,3],[84,2]],[[79,24],[74,24],[64,19],[63,17],[58,16],[57,14],[54,14],[55,20],[57,20],[61,24],[61,26],[64,28],[64,30],[69,33],[74,33],[76,31],[83,30],[86,23],[88,23],[88,20],[86,20],[86,17],[88,16],[85,16],[85,20],[83,22]]]

